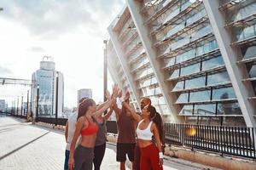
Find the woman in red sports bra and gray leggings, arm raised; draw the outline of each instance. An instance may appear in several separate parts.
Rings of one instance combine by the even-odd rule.
[[[71,170],[92,170],[96,133],[99,128],[96,117],[101,116],[102,112],[106,111],[115,102],[118,91],[118,86],[114,85],[112,97],[109,93],[106,93],[108,101],[99,110],[96,110],[96,103],[93,99],[84,99],[80,103],[78,122],[70,146],[68,167]],[[81,142],[75,149],[79,135],[81,135]]]

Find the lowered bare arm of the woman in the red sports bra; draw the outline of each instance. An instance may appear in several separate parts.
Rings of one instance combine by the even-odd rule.
[[[75,133],[73,135],[73,139],[72,139],[72,142],[71,142],[71,145],[70,145],[68,167],[71,170],[73,170],[73,163],[74,163],[73,152],[74,152],[75,145],[77,143],[77,140],[79,138],[80,132],[81,132],[83,127],[88,127],[88,122],[84,122],[84,118],[80,117],[79,121],[76,123],[76,130],[75,130]]]

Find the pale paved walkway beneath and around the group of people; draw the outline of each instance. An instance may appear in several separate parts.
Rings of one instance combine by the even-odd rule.
[[[65,145],[63,132],[0,116],[0,170],[61,170]],[[108,144],[102,170],[119,169],[115,155],[115,147]],[[188,162],[165,163],[165,170],[207,169]]]

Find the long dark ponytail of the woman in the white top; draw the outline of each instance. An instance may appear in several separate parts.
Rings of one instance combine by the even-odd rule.
[[[162,118],[160,116],[160,114],[155,110],[154,106],[152,105],[148,105],[148,111],[150,112],[149,118],[151,121],[154,122],[154,124],[156,125],[159,135],[160,135],[160,141],[162,144],[165,143],[164,139],[163,139],[163,121]]]

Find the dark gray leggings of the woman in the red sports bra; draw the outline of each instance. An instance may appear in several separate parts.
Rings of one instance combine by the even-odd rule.
[[[86,148],[79,144],[74,150],[74,170],[92,170],[94,148]]]

